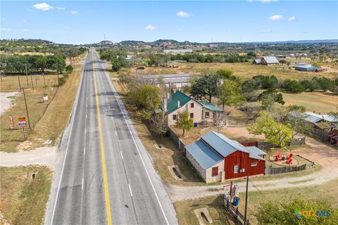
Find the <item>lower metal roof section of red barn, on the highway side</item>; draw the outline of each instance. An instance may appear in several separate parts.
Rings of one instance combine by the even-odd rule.
[[[192,155],[192,157],[194,157],[203,169],[208,169],[213,165],[218,164],[218,162],[223,161],[223,158],[218,155],[218,153],[201,140],[189,144],[185,147],[185,149]]]

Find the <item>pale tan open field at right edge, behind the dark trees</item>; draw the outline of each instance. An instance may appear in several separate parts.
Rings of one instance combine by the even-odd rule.
[[[326,114],[334,112],[338,107],[338,96],[324,94],[323,92],[303,92],[299,94],[282,93],[287,105],[303,105],[306,111]]]

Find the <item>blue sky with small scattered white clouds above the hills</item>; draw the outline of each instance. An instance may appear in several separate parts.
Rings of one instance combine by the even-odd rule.
[[[2,1],[1,39],[65,44],[338,39],[338,1]]]

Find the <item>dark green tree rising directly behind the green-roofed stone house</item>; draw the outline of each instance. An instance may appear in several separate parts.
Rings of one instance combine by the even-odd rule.
[[[204,75],[196,79],[190,87],[190,94],[197,99],[206,98],[211,103],[211,99],[218,91],[218,79],[217,75]]]

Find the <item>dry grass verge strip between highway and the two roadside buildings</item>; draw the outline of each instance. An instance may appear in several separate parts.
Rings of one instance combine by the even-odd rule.
[[[118,82],[113,82],[113,84],[127,108],[139,139],[141,139],[144,147],[151,155],[155,168],[163,181],[184,186],[205,185],[197,172],[192,168],[192,165],[190,165],[188,160],[184,157],[184,154],[175,146],[173,140],[170,139],[170,137],[161,138],[161,136],[154,134],[151,132],[150,127],[140,119],[137,108],[135,108],[127,99],[125,87]],[[155,147],[156,144],[161,144],[165,148],[157,149]],[[174,179],[168,169],[168,166],[170,165],[177,165],[187,180],[177,181]]]

